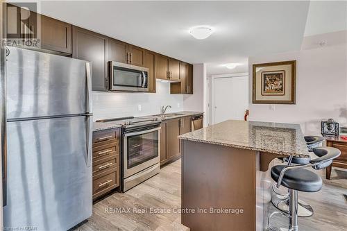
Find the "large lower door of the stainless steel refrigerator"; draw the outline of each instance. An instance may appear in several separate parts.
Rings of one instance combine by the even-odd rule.
[[[6,228],[68,230],[91,216],[88,121],[67,117],[7,123]]]

